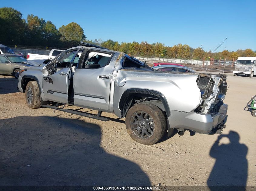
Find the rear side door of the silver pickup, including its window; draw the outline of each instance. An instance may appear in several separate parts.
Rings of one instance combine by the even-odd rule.
[[[73,76],[74,104],[82,107],[109,110],[111,75],[114,53],[89,50],[78,63]]]

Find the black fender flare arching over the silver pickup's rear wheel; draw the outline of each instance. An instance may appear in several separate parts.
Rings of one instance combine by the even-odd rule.
[[[122,94],[121,99],[120,99],[119,104],[118,104],[118,107],[121,110],[121,117],[124,117],[126,115],[126,113],[128,112],[128,110],[126,110],[125,112],[122,113],[122,107],[124,107],[125,104],[128,104],[126,102],[130,101],[128,98],[132,94],[135,94],[135,95],[138,95],[138,96],[143,96],[144,95],[145,97],[147,95],[150,95],[153,98],[160,99],[161,102],[164,105],[167,118],[169,116],[171,116],[168,102],[167,102],[165,96],[161,92],[158,92],[158,91],[155,91],[155,90],[141,89],[141,88],[130,88],[130,89],[125,90],[125,92]]]

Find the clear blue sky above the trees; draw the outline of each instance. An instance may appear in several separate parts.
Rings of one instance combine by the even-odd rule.
[[[256,1],[1,1],[27,18],[37,15],[57,28],[77,22],[88,39],[188,44],[213,50],[256,50]]]

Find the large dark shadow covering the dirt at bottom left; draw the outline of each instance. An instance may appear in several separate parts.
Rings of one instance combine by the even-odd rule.
[[[101,142],[98,125],[19,116],[2,119],[0,129],[0,185],[151,185],[137,164],[107,153],[121,148],[109,138]]]

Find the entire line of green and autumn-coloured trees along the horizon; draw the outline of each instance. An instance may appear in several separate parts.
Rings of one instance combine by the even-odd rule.
[[[132,56],[170,57],[183,59],[237,59],[239,56],[256,56],[252,49],[224,50],[218,53],[204,51],[201,47],[191,48],[187,44],[177,44],[172,47],[163,43],[117,42],[111,39],[88,40],[82,27],[71,22],[59,29],[51,21],[45,21],[33,14],[22,19],[22,13],[13,8],[0,8],[0,43],[28,46],[72,47],[79,42],[92,43],[111,50],[131,54]]]

